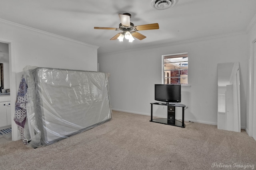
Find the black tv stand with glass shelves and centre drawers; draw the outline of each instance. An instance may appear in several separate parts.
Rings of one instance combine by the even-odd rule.
[[[156,122],[156,123],[162,123],[166,125],[172,125],[172,126],[178,126],[178,127],[185,127],[186,125],[184,124],[184,108],[186,105],[184,104],[166,104],[166,103],[150,103],[151,104],[151,122]],[[158,118],[158,119],[153,119],[153,104],[155,105],[164,105],[167,106],[167,118]],[[175,107],[182,107],[182,121],[175,120]]]

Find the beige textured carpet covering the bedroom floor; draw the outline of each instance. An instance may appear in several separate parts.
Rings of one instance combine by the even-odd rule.
[[[3,144],[0,169],[208,170],[230,166],[227,169],[242,170],[256,166],[256,141],[245,131],[224,131],[202,123],[185,123],[181,128],[118,111],[112,117],[46,147],[28,148],[21,140]]]

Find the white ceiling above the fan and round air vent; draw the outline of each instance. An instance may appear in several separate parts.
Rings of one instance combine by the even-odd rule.
[[[204,37],[245,32],[256,14],[256,0],[178,0],[155,10],[152,0],[0,0],[0,19],[99,46],[98,54],[156,46]],[[111,40],[118,14],[130,13],[134,25],[159,23],[160,29],[139,31],[147,38]],[[119,31],[120,32],[120,31]]]

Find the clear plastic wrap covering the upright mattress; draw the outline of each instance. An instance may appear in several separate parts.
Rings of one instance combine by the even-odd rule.
[[[26,66],[23,72],[28,86],[28,147],[50,145],[112,118],[108,74],[35,66]]]

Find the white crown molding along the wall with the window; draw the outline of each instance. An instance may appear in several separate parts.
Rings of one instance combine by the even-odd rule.
[[[203,38],[197,38],[197,39],[189,39],[189,40],[184,40],[184,41],[176,41],[172,43],[164,43],[164,44],[159,44],[159,45],[152,45],[148,47],[141,47],[141,48],[136,48],[136,49],[128,49],[128,50],[122,50],[122,51],[115,51],[115,52],[110,52],[110,53],[104,53],[104,54],[98,54],[98,56],[103,56],[103,55],[111,55],[111,54],[118,54],[118,53],[125,53],[129,51],[138,51],[138,50],[143,50],[143,49],[152,49],[152,48],[158,48],[158,47],[168,47],[171,45],[179,45],[179,44],[184,44],[184,43],[193,43],[193,42],[199,42],[199,41],[205,41],[209,39],[216,39],[216,38],[222,38],[222,37],[228,37],[232,35],[240,35],[240,34],[247,34],[246,31],[240,31],[236,33],[227,33],[227,34],[222,34],[222,35],[214,35],[214,36],[209,36],[209,37],[203,37]]]

